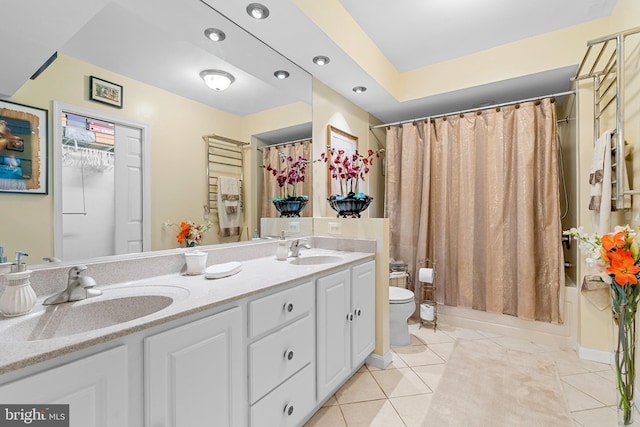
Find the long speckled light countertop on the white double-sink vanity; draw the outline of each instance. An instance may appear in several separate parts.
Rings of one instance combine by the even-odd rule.
[[[33,311],[27,315],[14,318],[0,316],[0,374],[374,257],[373,253],[330,249],[303,250],[300,257],[313,255],[338,255],[341,259],[338,262],[326,264],[293,265],[290,262],[291,258],[287,261],[277,261],[273,255],[270,255],[242,261],[242,270],[239,273],[221,279],[206,279],[204,275],[186,276],[180,273],[155,276],[97,286],[96,289],[103,290],[102,296],[57,306],[45,307],[42,305],[45,297],[39,297]],[[163,298],[130,298],[145,295],[165,295],[173,298],[173,302],[159,311],[126,321],[127,313],[119,313],[118,309],[144,310],[144,306],[136,306],[136,304],[162,306],[163,301],[165,304],[169,302]],[[93,302],[120,297],[126,299],[103,306],[108,309],[100,310],[95,306],[87,309],[86,307]],[[82,306],[85,308],[83,309]],[[148,310],[153,311],[155,308],[149,307]],[[100,312],[107,313],[109,319],[97,318]],[[114,317],[119,321],[123,319],[125,321],[82,332],[82,328],[91,327],[87,325],[109,324],[112,322],[110,319]],[[75,325],[81,328],[79,333],[75,333]],[[60,328],[64,329],[64,336],[56,337],[56,333],[60,334]],[[41,339],[43,336],[52,338]]]

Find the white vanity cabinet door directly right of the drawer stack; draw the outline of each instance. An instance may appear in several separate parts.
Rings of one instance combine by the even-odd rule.
[[[337,388],[351,372],[350,270],[317,280],[318,399]]]

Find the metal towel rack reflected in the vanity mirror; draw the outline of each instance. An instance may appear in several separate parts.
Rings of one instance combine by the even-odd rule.
[[[218,176],[229,176],[240,180],[240,209],[244,209],[244,148],[248,142],[220,135],[202,137],[207,149],[207,204],[206,213],[218,210]]]

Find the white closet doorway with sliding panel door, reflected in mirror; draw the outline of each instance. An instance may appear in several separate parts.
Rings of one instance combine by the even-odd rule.
[[[114,200],[115,206],[104,208],[105,217],[94,225],[87,225],[88,233],[77,232],[77,225],[68,224],[78,218],[86,220],[86,203],[92,197],[104,202],[107,192],[104,189],[88,189],[89,181],[84,182],[84,197],[69,198],[65,194],[63,176],[62,113],[70,113],[115,124],[115,167],[114,185],[108,198]],[[92,258],[95,256],[115,255],[150,250],[150,167],[148,127],[141,123],[123,120],[75,105],[53,102],[53,207],[54,207],[54,255],[63,261]],[[78,172],[76,171],[76,174]],[[84,178],[89,177],[87,174]],[[89,177],[90,178],[90,177]],[[67,181],[69,181],[67,179]],[[81,180],[72,180],[82,182]],[[104,181],[104,180],[101,180]],[[79,191],[76,191],[80,194]],[[73,203],[70,203],[73,202]],[[67,215],[65,205],[69,207]],[[102,206],[102,205],[101,205]],[[101,208],[102,209],[102,208]],[[106,212],[108,210],[108,213]],[[80,212],[78,214],[77,212]],[[95,212],[95,209],[94,209]],[[70,215],[71,213],[71,215]],[[74,214],[75,213],[75,214]],[[96,216],[97,218],[97,216]],[[85,221],[86,222],[86,221]],[[107,224],[111,223],[112,226]],[[66,224],[66,225],[65,225]],[[96,236],[96,230],[109,228],[110,233],[104,239]],[[91,231],[93,230],[93,231]],[[73,234],[73,244],[66,245]],[[114,237],[115,236],[115,237]],[[104,253],[94,253],[97,240],[107,240],[110,249]],[[107,242],[105,242],[107,243]],[[105,245],[103,245],[105,246]],[[71,248],[73,251],[71,251]]]

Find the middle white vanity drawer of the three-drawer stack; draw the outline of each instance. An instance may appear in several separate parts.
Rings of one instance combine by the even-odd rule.
[[[300,368],[314,352],[311,315],[249,345],[249,400],[254,403]]]

